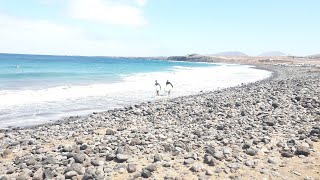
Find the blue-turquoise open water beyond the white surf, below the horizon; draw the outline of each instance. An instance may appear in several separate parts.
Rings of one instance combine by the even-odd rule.
[[[0,65],[0,90],[111,83],[130,74],[172,71],[174,66],[213,66],[145,59],[15,54],[0,54]]]

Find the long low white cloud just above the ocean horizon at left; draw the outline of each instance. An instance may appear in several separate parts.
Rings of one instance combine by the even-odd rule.
[[[52,54],[141,56],[152,55],[150,44],[126,39],[92,39],[84,29],[0,13],[0,52]]]

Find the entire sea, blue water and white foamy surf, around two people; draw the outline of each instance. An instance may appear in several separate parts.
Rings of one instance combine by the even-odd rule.
[[[246,65],[0,54],[0,128],[24,127],[262,80]],[[162,86],[156,96],[154,83]],[[174,88],[167,95],[165,82]]]

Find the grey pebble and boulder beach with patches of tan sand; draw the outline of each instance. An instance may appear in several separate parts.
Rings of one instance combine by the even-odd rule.
[[[5,179],[319,179],[320,71],[0,131]]]

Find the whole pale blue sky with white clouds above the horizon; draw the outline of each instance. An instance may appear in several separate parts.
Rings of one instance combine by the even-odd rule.
[[[320,53],[319,0],[0,0],[0,53]]]

